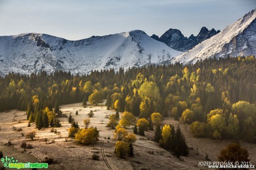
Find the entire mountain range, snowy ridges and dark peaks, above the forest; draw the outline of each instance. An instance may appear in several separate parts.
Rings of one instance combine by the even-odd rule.
[[[255,55],[255,18],[254,9],[221,32],[203,27],[189,38],[178,29],[169,29],[160,38],[142,30],[76,41],[37,33],[0,36],[0,75],[41,70],[87,74],[148,64],[189,64],[213,56]]]

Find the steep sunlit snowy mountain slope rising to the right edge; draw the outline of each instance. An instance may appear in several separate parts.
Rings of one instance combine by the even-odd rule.
[[[171,59],[171,63],[196,63],[213,56],[220,58],[228,55],[256,55],[256,9],[193,49]]]

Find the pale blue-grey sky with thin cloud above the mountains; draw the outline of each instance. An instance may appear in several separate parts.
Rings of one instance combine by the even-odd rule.
[[[170,28],[186,36],[223,30],[256,8],[256,0],[0,0],[0,35],[45,33],[68,40]]]

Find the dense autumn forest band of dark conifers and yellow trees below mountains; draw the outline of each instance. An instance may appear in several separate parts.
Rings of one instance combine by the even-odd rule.
[[[47,75],[9,73],[0,78],[0,111],[52,111],[56,102],[69,104],[103,99],[117,111],[148,118],[153,112],[193,123],[195,136],[238,138],[256,136],[256,59],[206,59],[194,65],[146,66],[91,71],[72,75],[56,71]],[[196,121],[196,122],[195,122]]]

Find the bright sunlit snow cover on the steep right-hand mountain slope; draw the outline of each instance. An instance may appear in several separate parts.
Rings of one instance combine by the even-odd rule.
[[[177,56],[175,59],[172,59],[171,63],[178,61],[180,63],[196,63],[198,60],[210,58],[213,56],[223,57],[228,54],[240,54],[238,49],[231,48],[232,43],[235,41],[234,39],[236,39],[238,35],[243,34],[247,30],[247,27],[255,22],[255,18],[256,9],[245,14],[245,16],[239,18],[235,23],[229,25],[220,33],[204,40],[203,42],[196,45],[193,49],[186,51],[186,53]],[[253,37],[251,37],[249,42],[247,42],[252,42],[252,39]],[[233,44],[233,46],[236,45]]]

